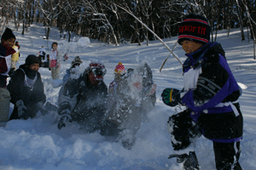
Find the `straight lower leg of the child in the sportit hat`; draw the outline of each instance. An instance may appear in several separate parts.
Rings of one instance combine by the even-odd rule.
[[[240,142],[213,142],[215,164],[218,170],[241,170],[238,162],[241,153]]]

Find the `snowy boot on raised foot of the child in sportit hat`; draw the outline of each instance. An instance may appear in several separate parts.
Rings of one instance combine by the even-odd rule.
[[[189,151],[189,155],[170,155],[168,159],[171,159],[172,157],[177,157],[177,163],[183,163],[183,167],[185,170],[199,170],[195,151]]]

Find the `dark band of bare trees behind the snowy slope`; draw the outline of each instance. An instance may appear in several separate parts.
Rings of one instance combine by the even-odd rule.
[[[15,20],[15,28],[22,35],[33,22],[45,26],[45,38],[55,26],[60,37],[71,41],[71,32],[81,37],[102,42],[138,43],[155,40],[137,19],[160,38],[177,36],[177,28],[184,15],[204,15],[212,26],[212,41],[219,30],[241,28],[241,41],[253,40],[255,59],[256,0],[1,0],[0,34],[9,20]],[[243,28],[247,28],[247,35]],[[68,35],[68,37],[67,37]]]

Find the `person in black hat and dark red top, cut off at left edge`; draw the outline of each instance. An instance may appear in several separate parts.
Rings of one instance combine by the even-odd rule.
[[[10,94],[6,89],[7,77],[11,67],[11,56],[15,54],[15,35],[8,27],[3,32],[0,44],[0,126],[9,121]]]

